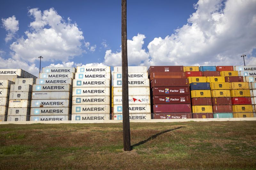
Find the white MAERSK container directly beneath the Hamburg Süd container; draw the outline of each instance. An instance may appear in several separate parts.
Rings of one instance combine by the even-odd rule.
[[[113,111],[114,114],[123,112],[122,105],[114,105],[113,109],[114,109]],[[129,104],[129,113],[151,113],[150,104],[144,104],[144,105]]]

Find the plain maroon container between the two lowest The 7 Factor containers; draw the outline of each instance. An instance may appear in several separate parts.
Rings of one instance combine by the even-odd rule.
[[[191,113],[190,104],[157,104],[153,105],[154,113]]]

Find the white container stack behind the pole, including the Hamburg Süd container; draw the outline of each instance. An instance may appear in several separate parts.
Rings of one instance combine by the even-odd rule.
[[[122,67],[114,67],[114,120],[123,120]],[[151,119],[150,91],[146,66],[128,67],[129,113],[131,120]]]

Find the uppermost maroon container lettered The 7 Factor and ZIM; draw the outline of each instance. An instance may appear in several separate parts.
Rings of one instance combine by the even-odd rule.
[[[190,95],[188,86],[180,87],[153,87],[151,89],[152,96],[155,95]]]

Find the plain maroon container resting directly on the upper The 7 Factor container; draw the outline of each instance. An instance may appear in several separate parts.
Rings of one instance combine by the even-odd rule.
[[[150,88],[163,86],[189,86],[187,78],[158,78],[150,81]]]

